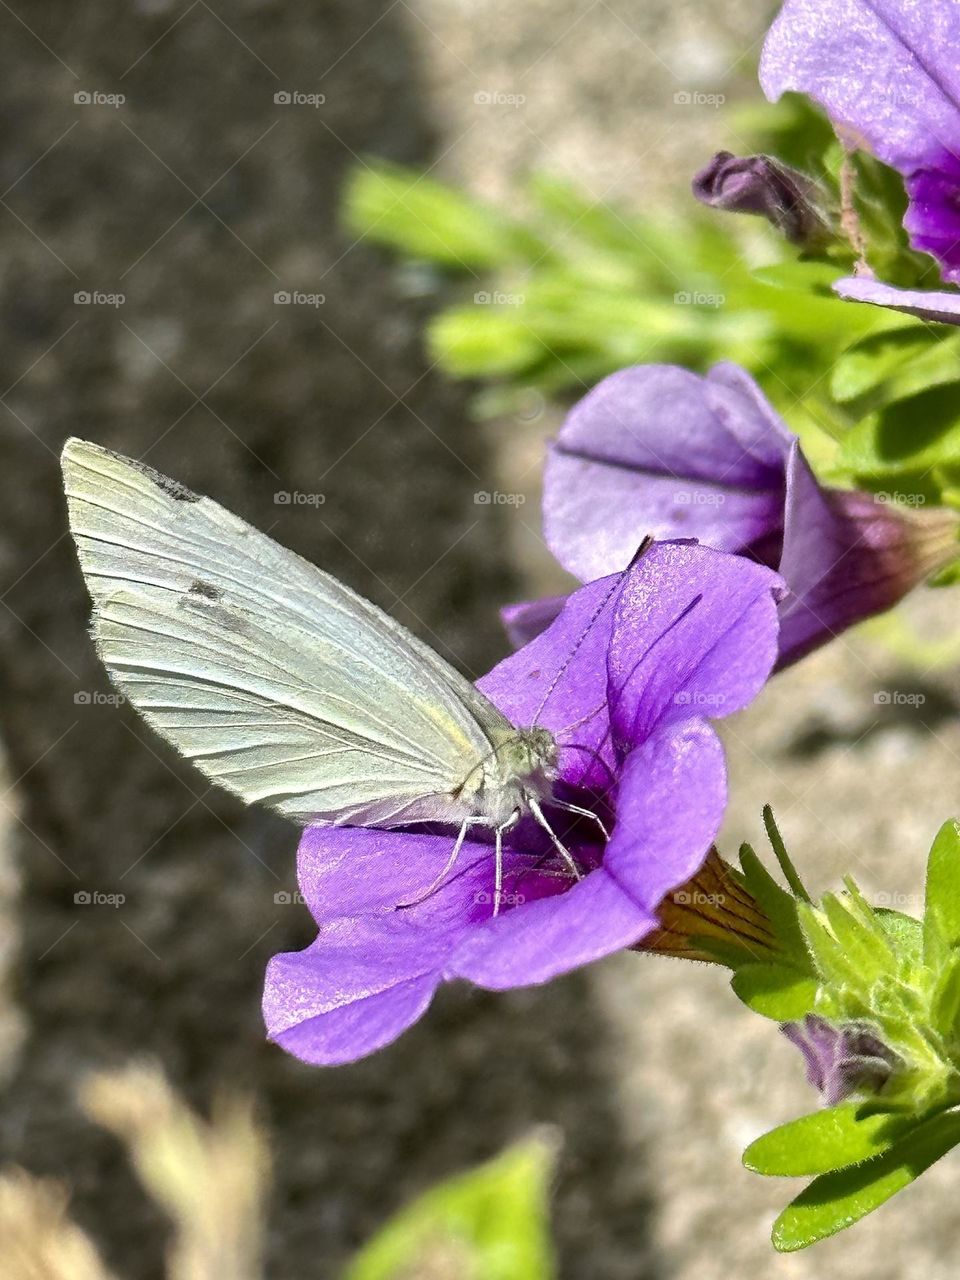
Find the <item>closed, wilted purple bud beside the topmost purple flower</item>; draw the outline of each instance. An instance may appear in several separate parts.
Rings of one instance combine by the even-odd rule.
[[[710,209],[765,218],[791,244],[817,248],[829,239],[817,183],[773,156],[718,151],[695,175],[692,191]]]

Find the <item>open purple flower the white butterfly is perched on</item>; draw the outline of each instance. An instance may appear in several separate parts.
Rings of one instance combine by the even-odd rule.
[[[573,879],[545,833],[524,820],[504,842],[494,915],[494,856],[467,840],[445,882],[453,835],[314,827],[300,886],[319,925],[306,951],[268,968],[273,1039],[308,1062],[371,1053],[415,1021],[445,979],[502,989],[632,946],[657,908],[704,863],[726,805],[709,718],[749,703],[777,653],[780,580],[749,561],[689,544],[652,547],[626,573],[573,593],[557,621],[479,687],[516,724],[559,745],[550,809]]]

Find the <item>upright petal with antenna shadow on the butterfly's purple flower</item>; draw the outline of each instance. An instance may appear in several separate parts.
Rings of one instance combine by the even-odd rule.
[[[608,658],[621,750],[664,717],[730,716],[745,707],[777,657],[782,593],[781,579],[754,561],[698,545],[652,548],[620,593]]]

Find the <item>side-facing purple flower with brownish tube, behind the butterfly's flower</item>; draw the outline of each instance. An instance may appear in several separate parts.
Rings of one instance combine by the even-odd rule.
[[[818,484],[795,435],[736,365],[705,376],[637,365],[571,411],[544,481],[547,543],[582,581],[622,568],[645,534],[691,536],[777,568],[780,666],[896,604],[952,558],[948,512]],[[504,611],[522,643],[559,602]]]

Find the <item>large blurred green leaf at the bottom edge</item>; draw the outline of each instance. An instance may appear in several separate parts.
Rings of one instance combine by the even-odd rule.
[[[402,1210],[356,1256],[344,1280],[552,1280],[548,1225],[556,1143],[534,1137]]]

